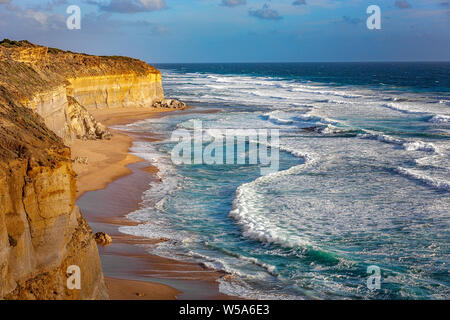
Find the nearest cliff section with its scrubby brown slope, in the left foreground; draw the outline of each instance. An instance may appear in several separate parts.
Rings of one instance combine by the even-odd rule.
[[[75,206],[70,149],[0,86],[0,299],[107,298],[91,229]],[[67,287],[67,267],[81,289]]]

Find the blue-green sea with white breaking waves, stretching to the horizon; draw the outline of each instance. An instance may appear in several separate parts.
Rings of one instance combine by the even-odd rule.
[[[224,270],[220,290],[246,298],[450,298],[450,63],[157,67],[198,112],[121,127],[165,138],[133,146],[162,182],[122,232],[170,239],[148,250]],[[279,171],[175,165],[172,132],[200,120],[278,129]]]

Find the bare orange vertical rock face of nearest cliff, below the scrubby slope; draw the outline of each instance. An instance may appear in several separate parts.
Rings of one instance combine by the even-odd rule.
[[[0,169],[0,298],[106,299],[97,245],[75,203],[70,159]],[[80,290],[67,286],[80,268]]]

